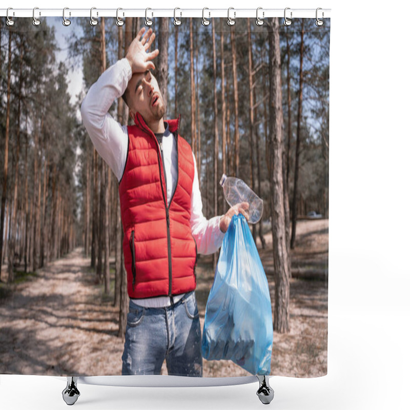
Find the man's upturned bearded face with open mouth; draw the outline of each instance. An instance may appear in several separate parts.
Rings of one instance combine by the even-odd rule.
[[[139,112],[148,125],[165,114],[157,80],[149,70],[133,74],[127,86],[127,102],[132,118]]]

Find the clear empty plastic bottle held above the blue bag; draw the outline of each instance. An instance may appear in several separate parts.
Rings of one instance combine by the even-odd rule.
[[[249,222],[256,223],[259,221],[263,213],[263,200],[242,179],[223,174],[219,183],[223,188],[225,199],[231,207],[234,207],[237,203],[248,202]]]

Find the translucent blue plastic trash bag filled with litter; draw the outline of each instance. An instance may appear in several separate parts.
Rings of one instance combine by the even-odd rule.
[[[243,215],[234,215],[207,301],[202,356],[232,360],[253,375],[269,375],[272,342],[268,280],[248,222]]]

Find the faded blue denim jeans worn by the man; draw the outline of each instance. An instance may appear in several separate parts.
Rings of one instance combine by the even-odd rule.
[[[172,376],[202,376],[201,326],[195,293],[167,308],[130,301],[122,375],[159,375],[167,361]]]

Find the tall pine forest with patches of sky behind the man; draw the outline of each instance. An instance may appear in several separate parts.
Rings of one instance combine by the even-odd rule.
[[[272,235],[274,282],[288,288],[288,300],[275,295],[275,302],[288,306],[284,278],[291,277],[296,222],[329,216],[330,20],[325,27],[314,19],[295,19],[289,27],[266,20],[258,27],[254,19],[237,19],[229,27],[226,19],[213,19],[204,27],[201,19],[174,26],[155,18],[151,49],[159,49],[154,75],[166,118],[181,114],[179,132],[197,160],[203,214],[228,209],[222,173],[263,198],[263,217],[251,230],[261,255]],[[126,18],[123,27],[115,21],[102,17],[94,27],[88,18],[74,18],[69,27],[60,18],[43,18],[39,27],[25,18],[14,27],[0,21],[0,290],[5,296],[20,277],[81,247],[95,283],[118,309],[123,335],[128,297],[118,181],[79,115],[89,87],[125,56],[144,26],[142,18]],[[110,113],[129,121],[121,99]],[[281,236],[286,267],[275,264]],[[280,333],[289,332],[289,312],[283,312],[274,314],[275,320],[284,315],[274,325]]]

